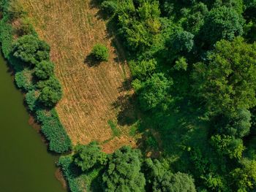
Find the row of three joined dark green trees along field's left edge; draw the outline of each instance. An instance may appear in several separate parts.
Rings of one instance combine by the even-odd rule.
[[[13,44],[12,53],[25,67],[34,70],[34,77],[39,81],[38,100],[45,107],[54,107],[61,99],[62,91],[59,80],[54,76],[54,64],[50,62],[50,47],[34,35],[23,35]]]

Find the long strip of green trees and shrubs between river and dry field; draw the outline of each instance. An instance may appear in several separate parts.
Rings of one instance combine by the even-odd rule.
[[[29,112],[48,141],[48,149],[55,153],[71,151],[71,140],[54,109],[61,99],[61,85],[53,74],[50,47],[38,39],[18,1],[1,1],[0,42],[15,83],[26,94]]]

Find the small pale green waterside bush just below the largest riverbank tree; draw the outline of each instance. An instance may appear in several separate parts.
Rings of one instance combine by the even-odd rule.
[[[15,82],[17,87],[22,88],[24,91],[30,91],[34,89],[31,70],[29,69],[23,69],[23,71],[16,72]]]

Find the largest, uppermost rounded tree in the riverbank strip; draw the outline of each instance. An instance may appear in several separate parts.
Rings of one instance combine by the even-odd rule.
[[[50,47],[32,35],[20,37],[13,45],[13,55],[29,65],[49,60]]]

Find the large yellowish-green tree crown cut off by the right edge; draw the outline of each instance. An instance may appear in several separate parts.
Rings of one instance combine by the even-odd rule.
[[[246,44],[244,39],[237,37],[233,42],[217,42],[206,64],[195,64],[192,77],[208,110],[230,115],[238,109],[255,106],[255,74],[256,44]]]

